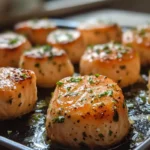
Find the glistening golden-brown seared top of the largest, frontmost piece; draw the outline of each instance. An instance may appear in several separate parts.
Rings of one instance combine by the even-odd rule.
[[[57,86],[55,90],[58,95],[56,94],[52,99],[53,107],[56,108],[57,106],[59,110],[63,106],[63,110],[67,109],[68,115],[69,112],[73,111],[71,113],[73,118],[79,119],[81,117],[89,120],[94,118],[95,120],[100,119],[99,121],[103,121],[103,119],[111,120],[112,116],[110,114],[114,113],[114,107],[117,110],[123,106],[124,97],[121,89],[105,76],[79,76],[65,78],[60,82],[63,85]],[[78,84],[80,84],[80,88]],[[67,87],[70,87],[69,92]],[[75,90],[75,92],[72,92],[72,90]],[[82,90],[84,94],[81,92],[82,94],[80,95]],[[74,100],[71,102],[71,99]],[[84,101],[84,99],[86,100]],[[59,103],[60,101],[61,103]],[[107,103],[108,101],[109,103]],[[57,109],[54,110],[53,107],[51,108],[51,113],[57,116]],[[62,115],[65,113],[63,110],[61,111]]]

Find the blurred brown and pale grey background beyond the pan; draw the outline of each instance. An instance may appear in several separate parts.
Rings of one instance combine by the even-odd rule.
[[[150,22],[149,6],[150,0],[0,0],[0,26],[38,17],[101,18],[134,26]]]

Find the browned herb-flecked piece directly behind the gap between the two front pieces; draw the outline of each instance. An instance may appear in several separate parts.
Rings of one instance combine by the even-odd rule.
[[[21,56],[20,67],[33,70],[40,87],[53,87],[57,81],[74,73],[66,52],[48,45],[26,51]]]

